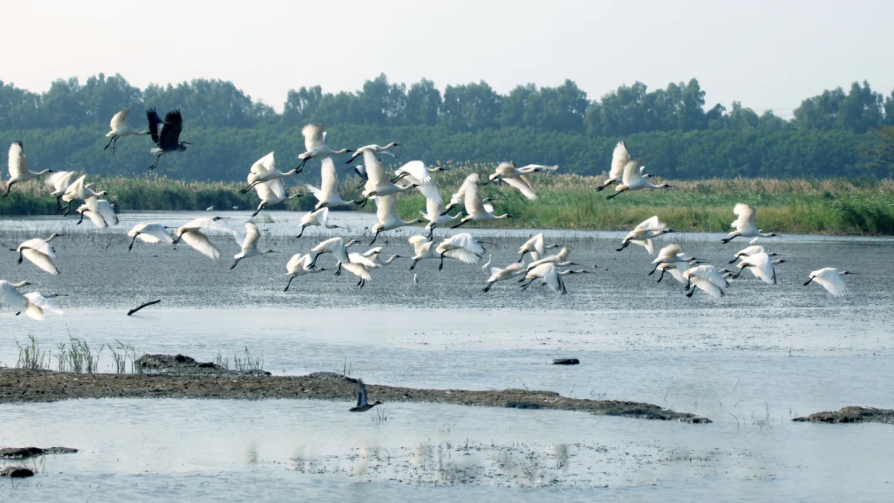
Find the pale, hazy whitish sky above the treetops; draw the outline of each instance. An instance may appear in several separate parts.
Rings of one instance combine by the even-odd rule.
[[[695,77],[706,103],[788,116],[855,80],[894,89],[891,1],[17,1],[2,9],[0,79],[120,73],[138,87],[233,81],[282,109],[290,88],[354,91],[385,73],[448,84],[569,78],[598,98]]]

